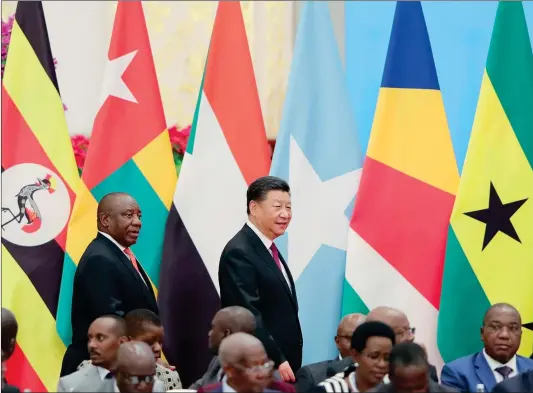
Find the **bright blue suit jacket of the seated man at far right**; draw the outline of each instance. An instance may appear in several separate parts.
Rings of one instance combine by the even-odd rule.
[[[519,373],[532,370],[533,360],[516,355],[516,367]],[[483,384],[485,391],[490,392],[496,385],[496,378],[483,352],[464,356],[446,364],[442,369],[440,380],[443,385],[461,392],[475,392],[478,384]]]

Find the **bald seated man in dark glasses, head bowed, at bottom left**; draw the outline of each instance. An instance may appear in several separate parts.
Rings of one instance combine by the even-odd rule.
[[[155,356],[148,344],[128,341],[118,349],[115,377],[104,379],[92,390],[82,390],[79,387],[74,392],[164,392],[163,384],[156,378],[155,365]]]

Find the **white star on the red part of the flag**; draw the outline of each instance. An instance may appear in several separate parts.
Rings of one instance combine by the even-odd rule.
[[[109,60],[105,69],[104,88],[100,96],[100,107],[107,100],[107,97],[113,96],[123,100],[138,103],[137,99],[129,89],[128,85],[122,79],[122,75],[131,64],[137,50],[127,53],[116,59]]]

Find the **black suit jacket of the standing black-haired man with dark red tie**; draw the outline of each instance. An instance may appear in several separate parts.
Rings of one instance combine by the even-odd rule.
[[[256,336],[276,365],[288,361],[293,372],[302,364],[303,337],[296,288],[280,255],[290,287],[272,255],[248,226],[231,239],[220,257],[218,280],[222,307],[242,306],[256,317]]]

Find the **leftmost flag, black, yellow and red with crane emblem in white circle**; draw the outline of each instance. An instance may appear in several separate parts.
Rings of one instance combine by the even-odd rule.
[[[19,322],[9,383],[54,391],[55,318],[79,174],[39,1],[20,1],[2,81],[2,306]]]

